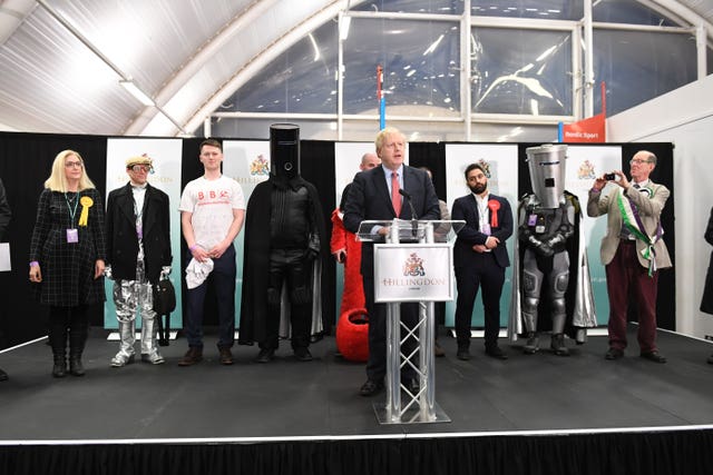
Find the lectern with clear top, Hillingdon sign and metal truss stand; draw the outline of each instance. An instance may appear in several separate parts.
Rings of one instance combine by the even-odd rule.
[[[450,422],[434,400],[433,303],[453,299],[452,243],[465,224],[393,219],[359,227],[359,240],[374,247],[374,301],[387,304],[387,402],[374,404],[380,424]],[[413,328],[401,321],[401,303],[419,304]],[[404,353],[408,338],[417,350]],[[416,373],[416,394],[401,384],[404,368]]]

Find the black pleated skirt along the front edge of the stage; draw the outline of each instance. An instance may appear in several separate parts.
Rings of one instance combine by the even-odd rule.
[[[12,475],[709,475],[713,432],[256,444],[6,445]]]

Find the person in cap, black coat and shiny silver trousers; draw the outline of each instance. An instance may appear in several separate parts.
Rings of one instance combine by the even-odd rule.
[[[107,199],[107,268],[114,279],[114,305],[119,324],[117,368],[134,362],[136,315],[141,317],[141,362],[160,365],[158,326],[152,285],[170,273],[168,195],[150,186],[153,161],[146,155],[126,160],[129,182]],[[159,317],[160,318],[160,317]]]

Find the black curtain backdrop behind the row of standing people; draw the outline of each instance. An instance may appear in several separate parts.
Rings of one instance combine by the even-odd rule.
[[[106,194],[106,152],[107,138],[104,136],[50,135],[0,132],[0,178],[2,178],[8,200],[12,208],[7,238],[12,254],[11,273],[0,273],[0,347],[8,347],[46,335],[47,309],[37,304],[30,295],[28,279],[29,244],[35,225],[37,200],[45,180],[49,177],[52,160],[65,149],[78,151],[87,164],[87,172],[102,196]],[[125,137],[123,137],[125,138]],[[231,139],[233,140],[233,139]],[[237,140],[237,139],[235,139]],[[182,188],[192,179],[203,175],[203,165],[198,160],[199,138],[183,140]],[[525,148],[539,144],[522,144],[519,149],[520,194],[528,191],[529,175],[525,164]],[[607,144],[611,146],[612,144]],[[593,145],[595,146],[595,145]],[[662,217],[664,240],[673,256],[674,251],[674,190],[673,190],[673,145],[672,144],[628,144],[623,147],[623,170],[628,171],[628,160],[636,150],[647,149],[656,154],[658,165],[652,179],[668,187],[672,197],[668,199]],[[446,144],[412,142],[409,145],[410,165],[426,166],[434,177],[436,191],[441,199],[446,198]],[[336,207],[334,202],[334,147],[331,141],[303,140],[301,148],[302,176],[314,184],[322,197],[324,219],[331,231],[330,214]],[[450,204],[449,204],[450,205]],[[514,204],[516,206],[516,204]],[[178,204],[172,204],[172,212],[178,214]],[[182,239],[182,255],[174,256],[176,270],[185,267],[185,243]],[[238,256],[241,265],[243,256]],[[675,269],[675,268],[674,268]],[[675,329],[675,270],[662,271],[658,285],[658,324],[663,328]],[[335,266],[332,260],[325,270],[331,283],[330,298],[334,298]],[[217,325],[215,320],[214,298],[206,299],[206,325]],[[213,306],[213,307],[212,307]],[[184,305],[185,308],[185,305]],[[326,309],[334,311],[334,305]],[[92,326],[104,325],[102,306],[90,310]],[[331,321],[335,316],[330,314]]]

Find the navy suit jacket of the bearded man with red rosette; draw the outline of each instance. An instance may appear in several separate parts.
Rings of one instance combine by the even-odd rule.
[[[512,236],[512,210],[507,199],[490,195],[488,200],[496,200],[500,204],[497,210],[498,226],[490,229],[490,235],[500,239],[500,244],[492,250],[492,255],[498,265],[502,268],[510,265],[510,258],[508,257],[508,250],[505,247],[505,241]],[[488,209],[488,222],[491,222],[491,209]],[[477,253],[472,250],[472,246],[476,244],[486,244],[488,236],[480,232],[479,216],[478,216],[478,202],[472,194],[468,194],[458,198],[453,202],[453,210],[450,214],[450,218],[453,220],[465,220],[466,226],[458,231],[458,238],[453,247],[453,261],[456,267],[467,267],[472,265],[476,260]]]

